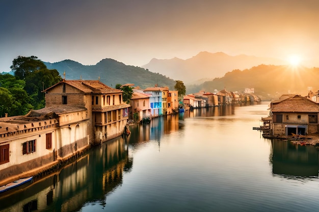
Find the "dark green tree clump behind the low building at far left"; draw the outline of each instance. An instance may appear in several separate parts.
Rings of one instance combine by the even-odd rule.
[[[36,56],[18,56],[13,59],[14,76],[0,73],[0,117],[24,115],[31,109],[45,107],[42,92],[62,80],[59,72],[49,70]]]

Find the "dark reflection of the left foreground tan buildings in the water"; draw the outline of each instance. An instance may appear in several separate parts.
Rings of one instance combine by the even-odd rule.
[[[130,171],[131,166],[126,140],[118,137],[96,146],[59,172],[1,196],[0,211],[73,211],[91,200],[104,205],[105,195],[122,184],[123,171]]]

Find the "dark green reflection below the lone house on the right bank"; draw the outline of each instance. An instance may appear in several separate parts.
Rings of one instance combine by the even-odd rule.
[[[290,141],[272,141],[273,173],[279,175],[318,176],[318,150],[312,145],[301,146]]]

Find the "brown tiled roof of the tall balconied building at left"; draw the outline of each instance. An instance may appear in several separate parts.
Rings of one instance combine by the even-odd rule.
[[[108,85],[103,84],[99,80],[65,80],[63,79],[61,82],[58,82],[55,85],[44,90],[51,89],[52,87],[57,86],[58,84],[66,83],[71,85],[84,93],[93,93],[93,94],[115,94],[122,93],[122,90],[110,87]]]

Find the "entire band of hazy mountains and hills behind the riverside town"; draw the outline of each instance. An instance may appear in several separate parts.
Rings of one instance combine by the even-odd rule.
[[[222,52],[200,52],[187,60],[152,59],[147,66],[144,66],[148,69],[125,65],[110,58],[102,59],[91,66],[69,59],[58,63],[44,62],[48,69],[57,69],[63,78],[64,72],[66,79],[97,80],[100,77],[101,82],[112,87],[116,84],[133,83],[143,89],[155,85],[174,89],[175,80],[182,80],[187,94],[197,93],[199,90],[214,92],[224,88],[231,92],[244,92],[245,88],[254,88],[255,94],[262,100],[278,99],[282,94],[289,93],[305,96],[308,90],[319,89],[317,85],[319,68],[264,65],[267,63],[281,63],[281,61],[247,55],[229,56]],[[161,72],[157,70],[158,73],[154,73],[156,71],[152,66],[155,64],[161,67]],[[186,80],[193,82],[198,80],[198,82],[195,84]]]

